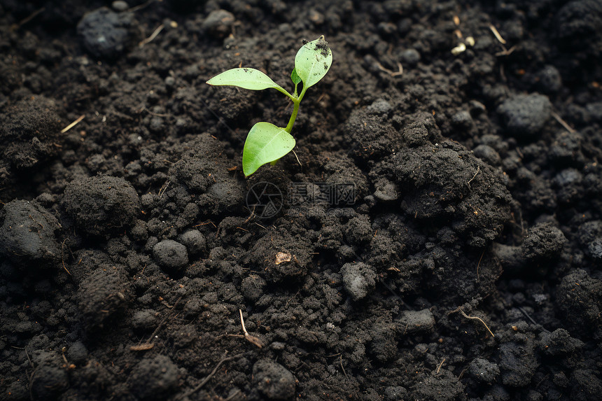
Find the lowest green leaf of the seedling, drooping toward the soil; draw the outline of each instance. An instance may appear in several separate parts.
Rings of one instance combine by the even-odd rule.
[[[253,125],[242,150],[242,171],[250,176],[263,164],[273,162],[295,147],[295,138],[284,128],[269,122]]]

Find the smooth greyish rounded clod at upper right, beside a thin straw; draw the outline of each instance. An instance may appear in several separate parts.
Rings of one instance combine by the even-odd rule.
[[[519,139],[533,139],[552,113],[552,104],[542,94],[517,94],[498,107],[507,133]]]

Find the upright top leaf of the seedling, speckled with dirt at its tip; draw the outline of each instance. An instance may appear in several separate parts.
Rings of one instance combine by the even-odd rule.
[[[316,85],[326,75],[331,64],[332,52],[324,36],[305,43],[295,56],[295,71],[303,80],[303,89]]]

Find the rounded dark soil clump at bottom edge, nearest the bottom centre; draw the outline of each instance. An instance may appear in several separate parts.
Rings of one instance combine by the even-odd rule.
[[[295,377],[286,367],[272,360],[258,360],[253,365],[255,386],[269,400],[292,400],[295,397]]]

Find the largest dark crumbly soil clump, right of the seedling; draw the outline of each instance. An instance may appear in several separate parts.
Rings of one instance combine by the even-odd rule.
[[[399,185],[409,216],[442,219],[439,224],[451,219],[473,246],[494,239],[510,218],[510,194],[498,173],[449,141],[402,149],[372,169],[371,178],[379,176]]]

